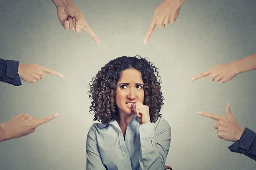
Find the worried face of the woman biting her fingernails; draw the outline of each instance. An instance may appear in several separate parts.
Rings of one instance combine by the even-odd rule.
[[[133,114],[131,103],[144,101],[143,80],[140,71],[129,68],[121,72],[117,82],[116,105],[119,114]]]

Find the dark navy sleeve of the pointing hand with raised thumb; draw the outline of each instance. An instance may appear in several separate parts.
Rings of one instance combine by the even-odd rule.
[[[231,152],[242,153],[256,161],[256,133],[245,127],[241,138],[228,148]]]

